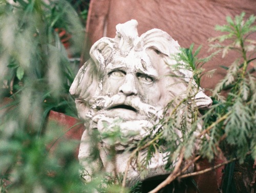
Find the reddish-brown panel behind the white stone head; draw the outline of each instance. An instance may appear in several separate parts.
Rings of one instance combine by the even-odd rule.
[[[221,35],[215,31],[216,25],[226,24],[226,16],[233,17],[244,11],[246,18],[256,13],[255,0],[91,0],[86,27],[86,45],[82,62],[88,58],[89,48],[103,36],[115,37],[115,26],[127,20],[136,19],[139,23],[139,35],[147,30],[158,28],[166,31],[181,47],[188,48],[192,43],[195,47],[202,45],[200,57],[206,57],[208,38]],[[206,71],[217,69],[212,78],[203,77],[201,86],[213,89],[225,75],[220,65],[229,66],[238,53],[230,52],[225,58],[221,54],[206,63]],[[199,161],[197,169],[201,170],[220,163]],[[201,193],[220,192],[222,168],[205,173],[195,180]],[[196,192],[190,188],[187,192]]]

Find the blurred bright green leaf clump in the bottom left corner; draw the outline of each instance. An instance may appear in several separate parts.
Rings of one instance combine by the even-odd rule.
[[[79,141],[59,142],[54,146],[57,154],[53,154],[49,146],[63,135],[62,127],[53,123],[49,132],[36,137],[18,123],[15,128],[10,124],[6,121],[0,130],[1,192],[84,192],[80,166],[73,158]]]

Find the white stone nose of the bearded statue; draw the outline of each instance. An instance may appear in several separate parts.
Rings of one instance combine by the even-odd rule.
[[[138,91],[136,89],[135,79],[133,75],[126,74],[122,85],[119,88],[119,92],[123,93],[125,96],[137,95]]]

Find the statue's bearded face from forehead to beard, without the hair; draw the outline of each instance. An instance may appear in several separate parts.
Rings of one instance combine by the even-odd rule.
[[[118,57],[113,57],[107,64],[103,77],[102,89],[96,97],[94,105],[97,111],[93,115],[90,129],[97,129],[100,133],[108,131],[117,119],[121,119],[120,129],[123,137],[127,133],[135,132],[128,142],[140,140],[150,128],[162,117],[164,109],[163,81],[165,76],[160,69],[163,64],[153,58],[161,58],[161,54],[154,49],[147,51],[133,51]],[[161,68],[159,68],[161,67]],[[107,139],[102,139],[102,146],[110,148]],[[115,143],[115,148],[120,151],[127,146],[126,143]],[[103,161],[104,162],[104,161]]]

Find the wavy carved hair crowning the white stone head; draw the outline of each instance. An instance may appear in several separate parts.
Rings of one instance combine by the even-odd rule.
[[[149,30],[139,37],[137,25],[134,19],[118,24],[115,38],[103,37],[95,42],[90,50],[91,58],[79,70],[70,88],[70,93],[76,98],[76,102],[80,101],[89,106],[90,99],[99,94],[105,67],[115,55],[127,55],[132,49],[143,52],[147,48],[153,48],[166,55],[169,65],[176,63],[169,56],[180,51],[177,41],[159,29]],[[190,72],[185,69],[180,70],[180,74],[191,77]],[[209,105],[210,103],[209,101]]]

